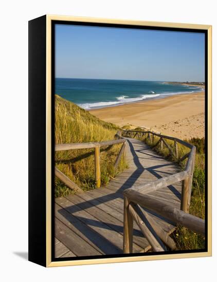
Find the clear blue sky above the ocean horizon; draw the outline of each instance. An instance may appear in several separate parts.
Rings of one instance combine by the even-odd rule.
[[[204,33],[56,25],[56,77],[204,82]]]

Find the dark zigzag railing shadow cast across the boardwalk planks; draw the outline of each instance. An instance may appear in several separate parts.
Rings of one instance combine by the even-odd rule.
[[[104,195],[104,196],[102,195],[100,197],[96,197],[95,199],[84,200],[82,203],[77,203],[77,204],[73,204],[72,203],[71,206],[68,207],[68,209],[70,210],[70,215],[72,217],[75,217],[75,218],[78,219],[78,221],[76,221],[76,223],[75,223],[75,220],[73,220],[73,222],[71,222],[71,224],[73,224],[75,226],[75,228],[77,228],[80,232],[82,232],[85,237],[87,237],[89,240],[91,240],[93,242],[93,244],[96,244],[96,236],[93,236],[93,233],[97,234],[97,232],[92,230],[92,232],[90,233],[89,229],[91,229],[91,227],[100,227],[100,228],[109,229],[109,230],[112,228],[113,230],[117,231],[118,233],[123,234],[123,226],[122,225],[114,225],[114,224],[111,224],[111,223],[107,224],[106,222],[103,222],[103,221],[93,220],[93,219],[89,219],[89,218],[87,219],[87,218],[82,217],[82,216],[77,216],[77,215],[74,216],[74,213],[76,213],[78,211],[78,209],[81,209],[81,210],[85,211],[85,210],[88,210],[89,207],[92,207],[92,206],[97,207],[98,205],[104,204],[104,203],[110,201],[111,199],[116,199],[116,198],[121,198],[122,199],[123,198],[123,196],[122,196],[123,190],[131,188],[136,183],[136,180],[140,178],[141,174],[144,171],[150,172],[154,177],[159,179],[159,178],[162,178],[162,176],[159,173],[157,173],[155,170],[159,169],[159,168],[163,168],[163,167],[171,166],[172,165],[172,164],[162,164],[162,165],[156,165],[156,166],[144,168],[142,166],[142,164],[140,163],[139,158],[138,158],[138,156],[136,154],[136,152],[138,150],[134,150],[134,147],[133,147],[133,145],[132,145],[130,140],[127,140],[127,142],[128,142],[128,145],[129,145],[129,148],[130,148],[130,152],[131,152],[132,157],[133,157],[133,163],[136,166],[136,168],[135,168],[135,171],[132,174],[129,174],[128,179],[126,179],[126,181],[120,186],[120,188],[118,190],[116,190],[114,193],[109,194],[109,199],[108,199],[107,195]],[[142,153],[144,155],[146,155],[146,154],[149,155],[148,152],[146,152],[146,151],[148,151],[148,149],[150,149],[149,146],[147,146],[146,144],[143,145],[141,143],[139,143],[139,145],[141,145],[143,147],[142,149],[140,149],[142,151]],[[150,156],[155,158],[156,160],[158,158],[160,160],[162,160],[162,157],[160,158],[158,156],[153,156],[153,155],[149,155],[149,159],[150,159]],[[171,174],[171,173],[168,173],[168,174]],[[169,186],[168,188],[180,200],[180,192],[178,192],[175,189],[175,187],[173,187],[172,185]],[[101,188],[101,189],[103,189],[103,188]],[[64,208],[59,209],[58,212],[62,216],[64,216],[67,220],[69,220],[69,223],[70,223],[70,218],[68,216],[65,216],[66,210]],[[100,212],[100,210],[99,210],[99,212]],[[150,211],[149,211],[149,213],[155,215],[159,219],[164,219],[166,222],[171,223],[171,220],[168,220],[168,219],[160,216],[159,214],[156,214],[156,213],[150,212]],[[89,226],[88,229],[85,229],[86,232],[82,228],[83,224],[86,224],[86,225]],[[137,235],[139,237],[143,237],[143,235],[142,235],[142,233],[140,231],[134,229],[133,232],[134,232],[134,235]],[[100,236],[100,235],[98,234],[98,236]],[[102,237],[102,236],[100,236],[100,237]],[[106,238],[103,237],[103,240],[106,240]],[[110,241],[106,240],[106,244],[105,245],[107,245],[107,244],[112,244],[112,243]],[[102,252],[104,252],[104,251],[107,252],[107,246],[105,248],[103,248],[103,246],[102,246],[101,250],[102,250]],[[113,250],[112,247],[111,247],[111,250]],[[120,249],[117,250],[117,252],[119,252],[119,253],[121,251],[122,250],[120,250]],[[114,253],[114,250],[112,252]]]

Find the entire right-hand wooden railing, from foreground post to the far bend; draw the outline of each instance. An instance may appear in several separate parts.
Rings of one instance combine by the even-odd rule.
[[[194,159],[196,153],[195,146],[178,138],[162,135],[153,131],[124,130],[122,135],[125,135],[126,137],[131,136],[134,138],[136,136],[144,137],[144,140],[148,139],[150,143],[154,143],[155,136],[157,136],[159,137],[159,140],[153,145],[153,147],[156,147],[158,144],[160,144],[160,148],[162,149],[165,145],[168,148],[169,153],[176,159],[179,159],[181,162],[188,158],[184,171],[162,177],[152,182],[147,182],[146,184],[140,186],[132,186],[131,188],[124,190],[123,252],[132,253],[133,220],[136,221],[141,232],[149,241],[153,251],[166,251],[166,246],[172,250],[176,248],[173,239],[160,226],[158,226],[152,217],[149,216],[146,211],[142,210],[140,206],[173,221],[175,224],[180,224],[186,228],[189,228],[190,230],[193,230],[194,232],[204,235],[205,220],[188,213],[191,198]],[[165,139],[172,140],[174,142],[174,151]],[[178,153],[178,143],[190,149],[187,154],[180,158]],[[150,193],[151,191],[155,191],[181,181],[183,182],[183,185],[180,209],[177,209],[171,205],[167,205],[165,202],[147,195],[147,193]]]

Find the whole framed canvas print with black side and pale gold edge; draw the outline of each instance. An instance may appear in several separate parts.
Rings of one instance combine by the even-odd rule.
[[[29,22],[29,260],[211,255],[211,26]]]

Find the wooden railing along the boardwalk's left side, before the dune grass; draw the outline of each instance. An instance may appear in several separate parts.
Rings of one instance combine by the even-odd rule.
[[[104,142],[90,142],[90,143],[71,143],[71,144],[57,144],[55,145],[55,151],[66,151],[66,150],[77,150],[77,149],[91,149],[95,148],[95,179],[96,179],[96,187],[100,188],[101,186],[101,173],[100,173],[100,148],[111,146],[115,144],[121,144],[120,152],[116,158],[114,167],[115,169],[118,167],[121,156],[124,153],[125,142],[126,139],[121,137],[121,132],[118,131],[116,133],[116,137],[118,139],[108,140]],[[63,174],[58,168],[55,167],[55,175],[70,189],[76,192],[83,192],[83,190],[78,187],[72,180],[70,180],[65,174]]]

